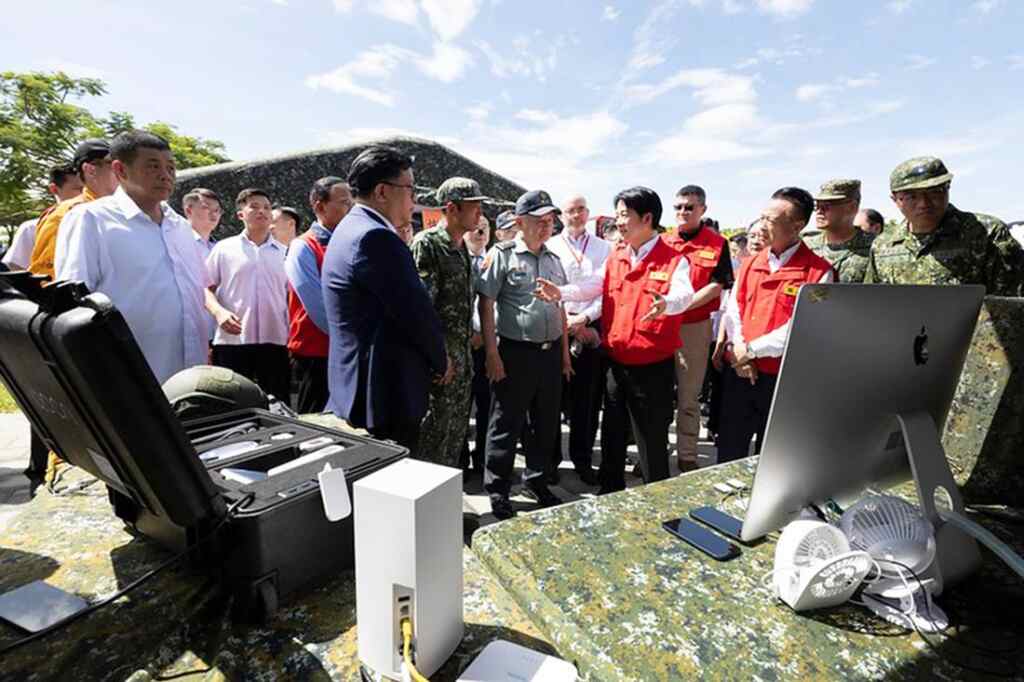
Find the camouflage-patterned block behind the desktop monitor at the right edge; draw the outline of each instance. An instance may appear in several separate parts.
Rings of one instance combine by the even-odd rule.
[[[942,440],[967,503],[1024,507],[1024,299],[985,298]]]

